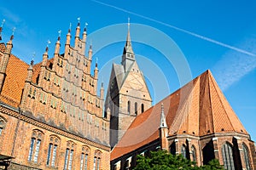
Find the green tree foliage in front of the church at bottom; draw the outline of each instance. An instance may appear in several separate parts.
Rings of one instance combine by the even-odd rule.
[[[195,162],[173,156],[166,150],[150,151],[150,156],[137,156],[137,167],[134,170],[175,170],[175,169],[224,169],[218,160],[212,160],[208,165],[197,167]]]

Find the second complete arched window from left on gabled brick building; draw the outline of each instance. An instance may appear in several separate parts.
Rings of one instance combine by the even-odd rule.
[[[55,160],[57,155],[57,148],[59,145],[60,139],[55,136],[49,138],[49,147],[47,152],[46,165],[55,167]]]

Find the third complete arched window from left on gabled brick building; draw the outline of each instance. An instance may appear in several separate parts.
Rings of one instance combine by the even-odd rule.
[[[73,169],[73,151],[74,151],[74,144],[73,142],[68,141],[67,149],[65,153],[64,170]]]

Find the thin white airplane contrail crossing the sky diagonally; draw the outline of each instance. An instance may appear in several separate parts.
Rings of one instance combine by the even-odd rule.
[[[246,50],[244,50],[244,49],[236,48],[236,47],[231,46],[231,45],[229,45],[229,44],[226,44],[226,43],[224,43],[224,42],[218,42],[218,41],[216,41],[216,40],[213,40],[212,38],[204,37],[204,36],[201,36],[201,35],[196,34],[196,33],[194,33],[194,32],[187,31],[187,30],[184,30],[184,29],[182,29],[182,28],[178,28],[177,26],[172,26],[172,25],[170,25],[170,24],[166,24],[165,22],[162,22],[162,21],[160,21],[160,20],[154,20],[154,19],[149,18],[149,17],[147,17],[147,16],[144,16],[144,15],[142,15],[142,14],[137,14],[137,13],[128,11],[128,10],[126,10],[126,9],[124,9],[124,8],[119,8],[119,7],[113,6],[113,5],[108,4],[108,3],[102,3],[102,2],[97,1],[97,0],[90,0],[90,1],[92,1],[92,2],[94,2],[94,3],[102,4],[102,5],[107,6],[107,7],[110,7],[110,8],[115,8],[115,9],[117,9],[117,10],[119,10],[119,11],[123,11],[123,12],[128,13],[128,14],[136,15],[136,16],[138,16],[138,17],[140,17],[140,18],[143,18],[143,19],[146,19],[146,20],[151,20],[151,21],[156,22],[156,23],[158,23],[158,24],[160,24],[160,25],[171,27],[171,28],[173,28],[173,29],[175,29],[175,30],[177,30],[177,31],[182,31],[182,32],[187,33],[187,34],[189,34],[189,35],[191,35],[191,36],[199,37],[199,38],[201,38],[202,40],[206,40],[207,42],[212,42],[212,43],[218,44],[218,45],[220,45],[220,46],[222,46],[222,47],[224,47],[224,48],[233,49],[233,50],[235,50],[235,51],[237,51],[237,52],[240,52],[240,53],[242,53],[242,54],[247,54],[247,55],[251,55],[251,56],[254,56],[254,57],[256,56],[256,54],[250,53],[250,52],[248,52],[248,51],[246,51]]]

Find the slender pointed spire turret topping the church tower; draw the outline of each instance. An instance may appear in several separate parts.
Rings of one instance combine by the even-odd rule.
[[[125,72],[128,71],[131,64],[135,61],[135,54],[131,46],[131,36],[130,36],[130,19],[128,18],[128,32],[125,42],[125,47],[122,56],[122,65],[125,67]]]

